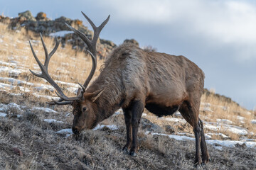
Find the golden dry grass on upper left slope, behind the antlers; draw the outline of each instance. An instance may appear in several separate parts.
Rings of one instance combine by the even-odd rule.
[[[33,48],[38,56],[39,60],[43,63],[45,59],[43,45],[38,35],[21,29],[20,31],[9,30],[6,25],[0,23],[0,35],[4,41],[4,47],[0,50],[0,61],[1,62],[12,62],[18,63],[18,66],[26,69],[26,72],[19,74],[16,79],[23,79],[32,83],[45,84],[45,81],[32,77],[28,69],[33,71],[41,72],[36,60],[34,60],[32,52],[30,50],[28,40],[31,40]],[[54,45],[54,38],[43,38],[46,43],[48,52],[50,52]],[[60,45],[61,46],[61,45]],[[97,71],[95,76],[100,73],[100,66],[102,61],[98,61]],[[73,50],[71,45],[65,45],[65,48],[58,47],[58,50],[53,55],[49,64],[49,74],[54,80],[65,81],[70,83],[81,84],[85,81],[85,78],[90,73],[92,62],[90,55],[85,55],[84,52]],[[9,77],[9,73],[1,73],[1,77]],[[25,86],[26,87],[26,86]],[[60,87],[67,87],[60,85]],[[68,91],[65,91],[69,93]],[[47,93],[45,93],[47,94]],[[54,95],[54,94],[53,94]]]

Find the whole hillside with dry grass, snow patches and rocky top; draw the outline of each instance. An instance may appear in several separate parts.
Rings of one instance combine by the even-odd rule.
[[[45,26],[48,50],[55,43],[53,36],[62,37],[62,47],[50,61],[49,73],[65,94],[73,96],[77,83],[85,80],[92,64],[84,44],[73,33],[63,32],[68,29],[60,25],[68,21],[88,35],[92,32],[78,20],[61,17],[63,20],[51,21],[39,16],[0,16],[0,169],[194,168],[193,130],[178,112],[157,118],[144,111],[137,157],[122,152],[126,130],[121,110],[94,130],[75,137],[70,130],[72,107],[47,105],[46,101],[56,98],[53,87],[28,71],[40,70],[28,40],[43,61],[38,37],[41,30],[35,29]],[[97,49],[102,60],[98,60],[95,77],[113,47],[110,40],[99,40]],[[231,98],[206,89],[200,118],[211,162],[198,169],[256,169],[255,111],[247,111]]]

